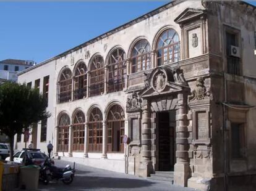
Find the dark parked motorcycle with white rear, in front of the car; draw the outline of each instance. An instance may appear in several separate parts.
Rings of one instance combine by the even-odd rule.
[[[71,184],[73,182],[73,179],[75,176],[75,163],[73,168],[71,168],[70,165],[66,165],[65,168],[58,168],[57,166],[54,166],[53,164],[51,164],[50,159],[46,159],[44,166],[46,167],[44,170],[46,173],[46,176],[50,177],[50,179],[61,180],[64,184]],[[48,174],[48,171],[49,171],[49,174]]]

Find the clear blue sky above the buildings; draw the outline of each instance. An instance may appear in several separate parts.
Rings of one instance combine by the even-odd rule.
[[[0,2],[0,60],[41,62],[167,2]]]

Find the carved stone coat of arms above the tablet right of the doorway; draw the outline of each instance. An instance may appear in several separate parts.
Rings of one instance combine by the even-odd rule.
[[[212,99],[210,91],[207,91],[205,87],[205,81],[202,77],[197,78],[197,85],[192,91],[192,95],[189,95],[189,102],[194,100]]]

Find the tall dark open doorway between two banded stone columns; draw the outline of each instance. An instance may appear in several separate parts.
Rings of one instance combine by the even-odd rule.
[[[158,113],[158,170],[172,171],[174,167],[174,126],[169,112]]]

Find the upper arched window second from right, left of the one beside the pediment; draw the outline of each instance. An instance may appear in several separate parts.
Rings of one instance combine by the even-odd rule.
[[[131,55],[132,73],[151,68],[150,49],[151,49],[150,44],[145,39],[138,41],[134,45],[134,47],[132,48],[132,55]]]

